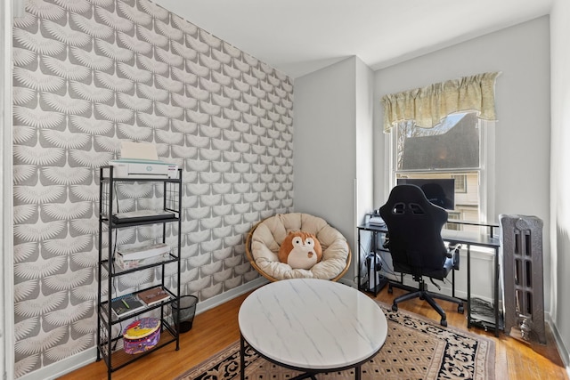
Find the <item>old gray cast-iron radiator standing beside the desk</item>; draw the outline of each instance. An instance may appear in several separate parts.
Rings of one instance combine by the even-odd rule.
[[[542,273],[542,220],[499,215],[501,221],[505,333],[513,327],[525,340],[546,344]]]

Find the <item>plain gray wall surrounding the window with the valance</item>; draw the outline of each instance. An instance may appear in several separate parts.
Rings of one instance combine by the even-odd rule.
[[[550,34],[549,18],[475,38],[411,61],[376,71],[375,147],[387,147],[382,133],[386,93],[422,87],[455,77],[501,71],[496,82],[497,117],[494,131],[495,185],[490,187],[494,213],[536,215],[550,230]],[[375,157],[380,174],[386,150]],[[387,197],[386,176],[375,178],[375,203]],[[544,267],[550,268],[550,240],[544,239]],[[545,308],[550,310],[550,271],[544,273]]]

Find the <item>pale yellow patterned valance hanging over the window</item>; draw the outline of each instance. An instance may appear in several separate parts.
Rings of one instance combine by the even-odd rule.
[[[447,115],[459,111],[476,111],[480,118],[496,120],[495,79],[499,74],[460,77],[384,95],[384,132],[405,120],[414,120],[418,126],[432,128]]]

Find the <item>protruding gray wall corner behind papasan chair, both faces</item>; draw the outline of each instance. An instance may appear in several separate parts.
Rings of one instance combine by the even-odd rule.
[[[350,57],[295,80],[295,211],[326,219],[353,252],[355,226],[372,208],[372,78]]]

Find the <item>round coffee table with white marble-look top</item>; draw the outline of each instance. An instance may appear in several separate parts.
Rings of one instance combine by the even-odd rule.
[[[386,341],[379,305],[352,287],[324,279],[285,279],[258,288],[240,306],[241,379],[245,343],[267,360],[315,373],[355,368]]]

